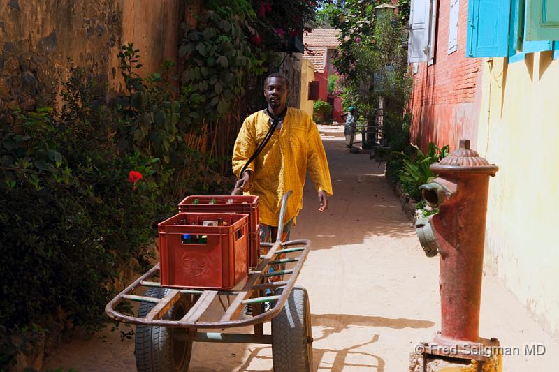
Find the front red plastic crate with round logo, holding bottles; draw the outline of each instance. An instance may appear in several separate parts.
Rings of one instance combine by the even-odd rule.
[[[220,218],[226,226],[203,225]],[[205,244],[192,242],[195,236],[198,240],[205,236]],[[161,285],[233,288],[248,273],[248,239],[246,214],[176,214],[159,223]]]

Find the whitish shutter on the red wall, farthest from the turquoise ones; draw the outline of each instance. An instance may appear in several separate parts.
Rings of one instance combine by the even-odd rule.
[[[427,61],[429,42],[430,1],[412,0],[409,10],[408,62]]]

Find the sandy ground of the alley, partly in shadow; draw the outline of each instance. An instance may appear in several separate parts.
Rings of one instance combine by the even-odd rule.
[[[298,285],[310,295],[314,369],[408,371],[414,345],[430,341],[439,329],[438,260],[423,254],[384,181],[384,164],[370,161],[368,154],[349,154],[342,132],[342,126],[321,126],[335,194],[330,207],[319,214],[317,193],[308,182],[305,209],[291,234],[291,239],[312,240]],[[487,271],[480,336],[520,348],[521,355],[503,357],[503,371],[558,370],[559,343]],[[527,344],[544,345],[546,352],[525,355]],[[133,340],[119,341],[108,327],[63,345],[46,359],[44,371],[135,371],[134,363]],[[190,370],[271,369],[268,346],[199,343]]]

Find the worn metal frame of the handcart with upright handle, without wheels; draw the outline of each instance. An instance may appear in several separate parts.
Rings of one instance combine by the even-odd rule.
[[[283,230],[284,210],[286,200],[291,195],[291,191],[282,198],[282,208],[279,214],[278,233],[275,243],[261,243],[261,246],[268,246],[270,250],[266,255],[261,255],[261,262],[256,269],[248,272],[247,282],[240,290],[200,290],[189,288],[168,288],[157,281],[150,281],[159,272],[159,262],[145,274],[136,279],[131,285],[120,292],[105,307],[106,313],[113,320],[145,326],[175,327],[186,328],[194,331],[195,329],[224,329],[232,327],[254,326],[254,334],[238,334],[226,332],[180,332],[173,335],[178,341],[194,342],[220,342],[220,343],[263,343],[271,344],[272,335],[263,334],[263,323],[272,320],[278,315],[286,303],[295,282],[299,276],[303,263],[307,259],[310,251],[310,241],[306,239],[281,241]],[[295,257],[282,258],[285,253],[293,253]],[[281,271],[269,272],[270,265],[286,264],[296,262],[293,269],[282,269]],[[280,276],[281,281],[268,281],[269,278]],[[133,295],[138,288],[168,288],[165,297],[159,299]],[[267,289],[284,288],[281,295],[263,296]],[[166,313],[180,301],[183,295],[199,295],[196,302],[180,320],[164,319]],[[224,315],[217,322],[200,320],[205,314],[215,297],[220,295],[235,296],[228,307],[224,306]],[[122,302],[151,302],[155,305],[147,313],[145,318],[125,315],[115,310],[116,306]],[[252,306],[253,315],[247,318],[240,318],[240,313],[247,305],[260,305],[264,302],[273,303],[273,307],[266,312],[262,312],[261,306]],[[310,314],[309,314],[310,315]],[[307,341],[312,343],[312,338]]]

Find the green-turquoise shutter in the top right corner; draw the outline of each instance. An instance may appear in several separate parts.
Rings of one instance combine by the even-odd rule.
[[[558,40],[558,0],[526,0],[526,5],[525,40]]]

